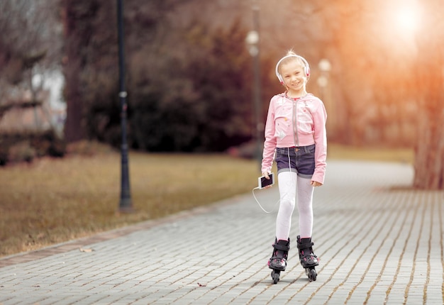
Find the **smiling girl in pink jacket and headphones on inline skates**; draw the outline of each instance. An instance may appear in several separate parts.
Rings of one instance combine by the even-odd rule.
[[[275,158],[280,194],[276,239],[268,265],[273,279],[274,271],[279,279],[279,272],[287,267],[297,189],[299,260],[309,279],[316,280],[314,267],[319,263],[311,242],[312,202],[313,189],[323,184],[326,172],[327,113],[321,99],[306,91],[310,68],[304,57],[289,51],[277,62],[276,75],[287,90],[272,97],[265,125],[262,175],[269,179]]]

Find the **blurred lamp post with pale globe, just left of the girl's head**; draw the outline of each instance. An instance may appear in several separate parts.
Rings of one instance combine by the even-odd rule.
[[[253,30],[248,32],[247,37],[245,38],[245,43],[248,45],[248,52],[252,57],[252,73],[253,73],[253,108],[255,109],[255,135],[253,134],[253,138],[256,140],[256,148],[254,157],[257,158],[259,162],[259,168],[262,162],[262,133],[264,131],[263,123],[261,123],[261,102],[260,102],[260,35],[259,35],[259,6],[254,4],[252,6],[252,16],[253,16]]]

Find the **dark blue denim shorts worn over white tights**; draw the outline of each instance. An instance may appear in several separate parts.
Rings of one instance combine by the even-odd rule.
[[[277,173],[296,172],[299,177],[311,178],[315,167],[315,146],[313,144],[292,148],[276,148]]]

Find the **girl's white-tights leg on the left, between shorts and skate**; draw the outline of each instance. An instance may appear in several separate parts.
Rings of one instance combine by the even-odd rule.
[[[292,226],[292,214],[296,200],[296,172],[280,172],[279,194],[280,204],[276,218],[276,239],[288,240]]]

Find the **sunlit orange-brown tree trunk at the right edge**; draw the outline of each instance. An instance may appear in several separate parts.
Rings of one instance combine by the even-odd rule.
[[[418,71],[412,90],[418,96],[419,123],[414,187],[444,189],[444,22],[438,0],[421,1],[423,30],[418,33]]]

